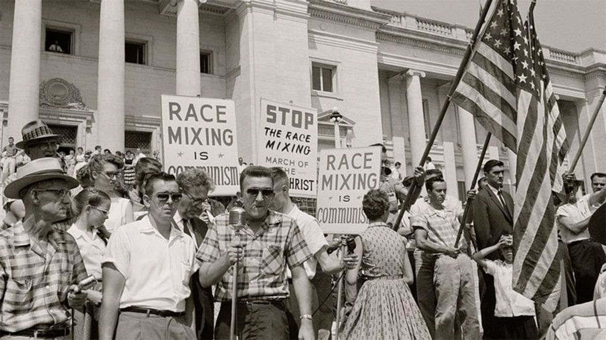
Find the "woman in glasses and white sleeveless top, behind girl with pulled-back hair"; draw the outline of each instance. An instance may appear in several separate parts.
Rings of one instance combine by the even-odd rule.
[[[133,204],[122,196],[122,160],[112,154],[95,155],[88,161],[88,174],[96,189],[105,191],[112,198],[105,227],[113,232],[119,226],[135,221]]]

